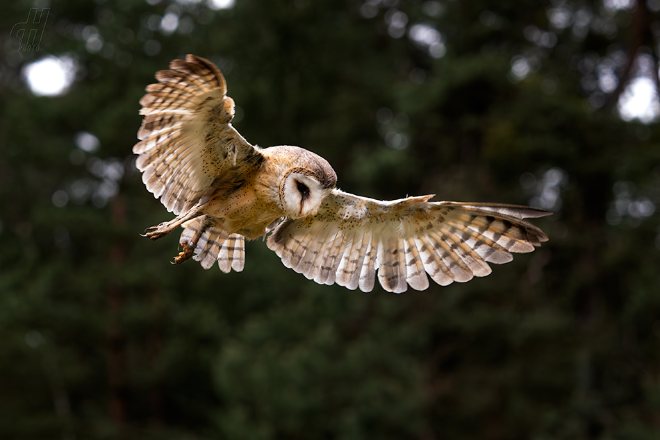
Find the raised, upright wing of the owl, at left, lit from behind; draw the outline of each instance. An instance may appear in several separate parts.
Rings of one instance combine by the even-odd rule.
[[[147,189],[169,211],[192,208],[213,181],[231,167],[261,156],[231,126],[234,102],[212,62],[188,55],[156,73],[140,99],[145,115],[138,131],[136,167]]]

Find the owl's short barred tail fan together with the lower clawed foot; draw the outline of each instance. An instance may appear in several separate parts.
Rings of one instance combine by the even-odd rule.
[[[174,258],[174,264],[181,264],[188,258],[199,261],[204,269],[210,269],[213,263],[224,273],[231,269],[240,272],[245,266],[245,237],[228,234],[210,215],[202,215],[183,223],[185,230],[179,244],[183,251]]]

